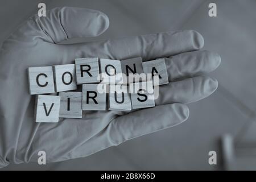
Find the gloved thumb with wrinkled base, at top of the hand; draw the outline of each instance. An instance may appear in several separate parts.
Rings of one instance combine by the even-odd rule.
[[[78,7],[56,7],[47,11],[46,16],[32,16],[11,35],[11,38],[16,40],[40,38],[49,43],[59,43],[72,38],[98,36],[108,27],[108,16],[100,11]]]

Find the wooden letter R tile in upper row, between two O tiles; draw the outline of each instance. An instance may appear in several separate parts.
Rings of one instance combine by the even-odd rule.
[[[78,58],[76,64],[77,84],[100,82],[100,67],[98,57]]]

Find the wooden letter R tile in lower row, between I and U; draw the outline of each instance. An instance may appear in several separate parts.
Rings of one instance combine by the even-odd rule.
[[[106,110],[106,90],[104,84],[83,84],[82,110]]]

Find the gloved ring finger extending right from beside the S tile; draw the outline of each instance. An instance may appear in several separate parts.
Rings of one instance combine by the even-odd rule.
[[[207,76],[197,76],[171,82],[158,87],[159,96],[155,100],[155,105],[196,102],[210,96],[217,87],[217,80]]]

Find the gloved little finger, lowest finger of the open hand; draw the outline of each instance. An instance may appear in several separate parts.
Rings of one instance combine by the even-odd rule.
[[[179,125],[188,118],[188,115],[189,109],[183,104],[134,111],[114,119],[106,131],[106,138],[112,145],[117,145],[129,139]]]

